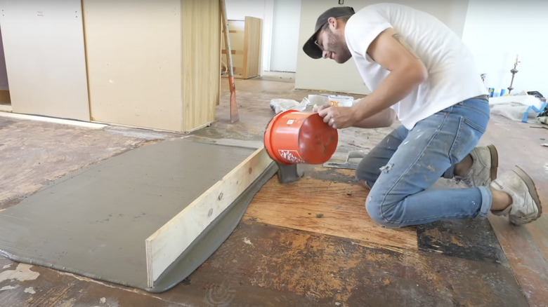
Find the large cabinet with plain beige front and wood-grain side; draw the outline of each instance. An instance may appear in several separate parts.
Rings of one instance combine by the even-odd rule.
[[[214,121],[218,0],[84,0],[95,121],[189,131]]]

